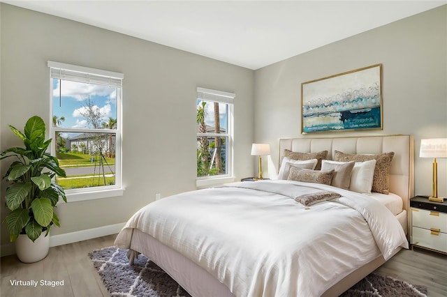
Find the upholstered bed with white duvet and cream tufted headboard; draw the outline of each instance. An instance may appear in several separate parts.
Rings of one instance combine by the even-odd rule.
[[[355,161],[357,172],[358,165],[393,152],[386,172],[373,167],[374,182],[385,178],[386,191],[303,182],[303,172],[320,178],[333,170],[296,165],[287,180],[231,183],[148,204],[115,245],[129,249],[131,263],[145,254],[192,296],[338,296],[408,248],[413,138],[279,139],[280,173],[293,153],[314,160],[321,151],[340,163],[366,158]],[[318,161],[318,167],[335,166],[329,163]],[[323,199],[312,204],[316,197]]]

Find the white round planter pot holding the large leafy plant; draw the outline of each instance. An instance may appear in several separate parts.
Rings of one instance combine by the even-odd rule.
[[[27,234],[20,234],[15,241],[15,253],[23,263],[34,263],[47,257],[50,250],[50,236],[45,236],[46,231],[34,241],[28,238]]]

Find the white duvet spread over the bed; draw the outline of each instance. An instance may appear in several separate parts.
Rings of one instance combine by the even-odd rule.
[[[342,197],[307,207],[294,200],[319,190]],[[379,254],[388,259],[408,248],[399,222],[374,199],[295,181],[233,183],[161,199],[135,213],[115,245],[130,248],[135,228],[205,268],[235,296],[320,296]]]

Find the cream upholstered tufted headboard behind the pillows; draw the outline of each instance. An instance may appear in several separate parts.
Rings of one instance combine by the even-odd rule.
[[[335,150],[359,154],[377,154],[393,151],[395,155],[390,167],[390,192],[402,197],[404,209],[408,213],[409,199],[414,195],[412,135],[279,139],[280,162],[281,157],[284,155],[284,149],[302,153],[316,153],[328,150],[329,160],[332,160]]]

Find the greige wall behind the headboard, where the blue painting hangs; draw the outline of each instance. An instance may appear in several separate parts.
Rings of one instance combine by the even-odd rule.
[[[255,72],[255,140],[411,134],[415,192],[431,194],[432,160],[418,158],[420,139],[447,137],[447,6],[346,38]],[[383,130],[301,135],[301,83],[383,64]],[[447,196],[447,160],[439,159],[439,195]]]

